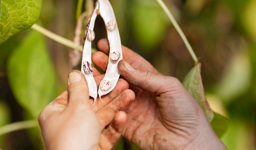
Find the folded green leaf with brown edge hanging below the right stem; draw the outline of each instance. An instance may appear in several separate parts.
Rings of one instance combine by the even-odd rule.
[[[198,63],[189,71],[189,73],[184,78],[182,84],[188,90],[188,92],[196,99],[196,101],[199,103],[204,113],[206,114],[208,121],[211,122],[214,114],[204,94],[204,85],[201,78],[201,63]]]

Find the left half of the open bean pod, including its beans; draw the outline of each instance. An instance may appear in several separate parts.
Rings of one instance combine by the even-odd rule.
[[[81,72],[84,74],[84,77],[86,78],[86,81],[89,87],[89,95],[90,97],[94,98],[93,105],[95,104],[96,98],[98,95],[97,85],[92,75],[92,40],[94,40],[95,38],[93,29],[94,29],[94,23],[97,17],[96,10],[98,10],[98,8],[99,8],[99,4],[98,2],[96,2],[94,10],[92,14],[89,16],[87,21],[86,31],[84,34],[83,49],[82,49],[82,67],[81,67]]]

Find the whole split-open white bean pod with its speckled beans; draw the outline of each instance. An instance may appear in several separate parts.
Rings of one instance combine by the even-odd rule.
[[[121,40],[116,25],[116,18],[114,15],[113,8],[108,0],[98,0],[94,7],[94,10],[86,25],[86,32],[84,35],[83,52],[82,52],[82,73],[86,77],[89,95],[94,98],[94,103],[97,97],[97,86],[92,75],[92,59],[91,59],[91,41],[95,38],[94,35],[94,22],[96,20],[97,14],[100,14],[106,24],[106,29],[108,33],[108,41],[110,47],[110,54],[108,59],[108,66],[103,80],[100,82],[100,87],[98,89],[98,95],[102,101],[102,95],[110,93],[119,79],[119,72],[117,69],[118,61],[122,59],[122,47]],[[92,105],[92,106],[93,106]]]

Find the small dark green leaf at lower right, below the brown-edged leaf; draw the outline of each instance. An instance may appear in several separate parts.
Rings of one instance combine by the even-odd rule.
[[[214,113],[214,118],[212,122],[210,123],[212,126],[212,129],[214,130],[215,134],[221,138],[224,133],[228,130],[229,126],[229,120],[228,118],[225,118],[224,116]]]

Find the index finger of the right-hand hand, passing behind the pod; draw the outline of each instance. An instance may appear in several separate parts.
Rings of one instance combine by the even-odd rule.
[[[102,51],[105,54],[109,54],[109,44],[108,39],[100,39],[97,44],[100,51]],[[141,70],[149,71],[152,73],[160,74],[146,59],[144,59],[141,55],[138,53],[135,53],[131,49],[125,47],[122,45],[122,54],[123,59],[127,61],[132,67],[138,68]],[[98,57],[97,60],[99,60],[100,57]]]

